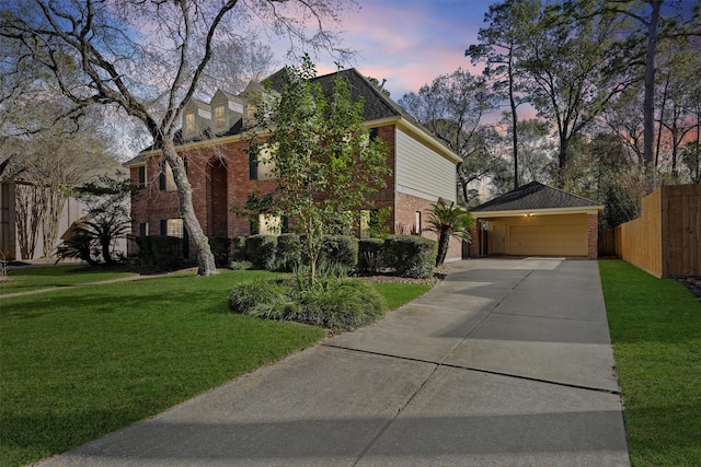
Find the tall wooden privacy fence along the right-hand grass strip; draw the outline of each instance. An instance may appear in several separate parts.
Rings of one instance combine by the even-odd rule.
[[[656,277],[701,276],[701,185],[664,186],[616,227],[616,254]]]

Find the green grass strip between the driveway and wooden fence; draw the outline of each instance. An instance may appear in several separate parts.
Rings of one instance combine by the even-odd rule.
[[[701,304],[627,262],[599,270],[632,465],[701,465]]]

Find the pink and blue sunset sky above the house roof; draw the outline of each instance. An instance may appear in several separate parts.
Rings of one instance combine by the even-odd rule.
[[[338,26],[342,46],[357,51],[348,65],[387,80],[384,89],[398,101],[440,74],[471,69],[464,50],[476,44],[484,13],[496,0],[357,1],[360,8],[346,13]],[[319,57],[318,70],[335,71],[333,60]]]

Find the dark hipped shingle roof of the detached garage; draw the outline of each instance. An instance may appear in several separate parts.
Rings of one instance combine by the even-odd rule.
[[[538,209],[595,208],[600,203],[561,189],[551,188],[539,182],[531,182],[505,195],[484,202],[472,212],[482,211],[527,211]]]

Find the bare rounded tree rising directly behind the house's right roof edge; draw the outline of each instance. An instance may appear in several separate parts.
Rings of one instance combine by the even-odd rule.
[[[493,166],[486,148],[491,132],[480,127],[482,116],[494,107],[486,80],[458,69],[423,85],[418,94],[405,94],[398,104],[462,159],[457,175],[468,202],[470,183]]]

